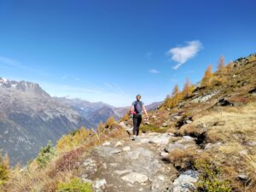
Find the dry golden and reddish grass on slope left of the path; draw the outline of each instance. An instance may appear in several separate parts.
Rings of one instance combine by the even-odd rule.
[[[55,192],[59,183],[67,182],[78,176],[79,164],[91,148],[104,143],[109,138],[127,137],[127,133],[117,124],[108,127],[102,135],[84,130],[78,131],[78,134],[74,137],[75,142],[79,141],[76,146],[72,146],[69,150],[68,148],[60,150],[55,159],[49,162],[45,168],[40,168],[33,160],[24,170],[13,171],[14,174],[9,183],[0,190],[3,192]],[[70,141],[70,136],[67,141]],[[70,146],[70,143],[67,144]],[[61,145],[65,146],[65,142],[62,142]]]

